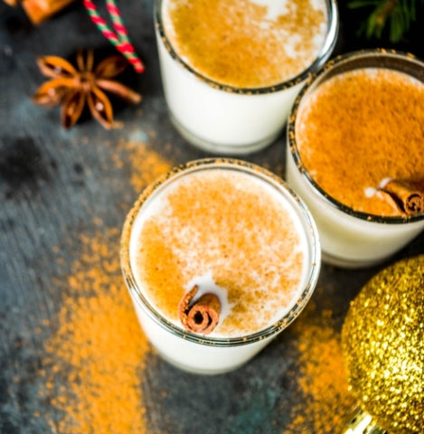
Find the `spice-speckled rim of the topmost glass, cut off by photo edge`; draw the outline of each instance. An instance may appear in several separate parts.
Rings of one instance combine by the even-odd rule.
[[[336,0],[324,0],[327,8],[328,16],[328,28],[325,35],[325,42],[321,47],[316,59],[310,63],[305,71],[299,72],[294,77],[288,80],[270,85],[259,87],[237,87],[230,84],[223,84],[219,81],[209,79],[203,73],[194,70],[186,61],[184,61],[177,52],[174,51],[172,43],[169,41],[165,33],[165,28],[162,21],[161,6],[164,0],[155,0],[154,3],[154,19],[155,28],[160,35],[162,42],[164,43],[166,51],[171,55],[174,61],[177,61],[186,71],[192,73],[195,77],[203,82],[207,83],[214,89],[223,90],[229,93],[235,93],[240,95],[261,95],[266,93],[273,93],[279,90],[286,90],[296,86],[302,81],[306,80],[315,71],[318,71],[325,61],[328,60],[331,53],[334,50],[335,43],[337,42],[337,35],[339,32],[339,14]]]

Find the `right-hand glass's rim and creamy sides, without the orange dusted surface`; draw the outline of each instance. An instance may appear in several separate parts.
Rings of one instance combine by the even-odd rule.
[[[297,97],[287,124],[287,183],[305,201],[314,216],[320,234],[323,260],[346,268],[370,266],[388,258],[424,228],[423,212],[382,216],[355,211],[340,203],[316,183],[302,161],[297,147],[297,131],[299,128],[310,127],[310,124],[298,121],[299,110],[310,107],[311,95],[327,80],[344,72],[363,69],[400,71],[410,76],[411,80],[424,83],[424,63],[410,54],[388,50],[346,53],[327,62],[322,71],[318,71],[306,83]],[[348,115],[344,121],[354,122]],[[328,127],[337,131],[335,121]],[[316,134],[319,135],[320,131],[316,131]],[[346,155],[351,152],[349,146],[355,146],[348,142],[347,137],[341,137],[340,142],[346,146]],[[337,164],[334,160],[334,165]],[[358,170],[358,166],[353,164],[350,170]],[[367,170],[372,170],[372,162]],[[345,183],[349,183],[349,174],[346,174]]]

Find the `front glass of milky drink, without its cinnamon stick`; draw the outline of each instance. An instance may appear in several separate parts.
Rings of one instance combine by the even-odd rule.
[[[304,204],[238,160],[194,161],[147,188],[127,216],[121,255],[146,336],[193,373],[230,371],[257,354],[305,307],[320,268]],[[181,316],[193,288],[193,302],[209,295],[221,307],[207,333]]]

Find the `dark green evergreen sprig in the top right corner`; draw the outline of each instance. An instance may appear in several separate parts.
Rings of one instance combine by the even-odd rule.
[[[368,39],[382,38],[382,32],[388,27],[391,42],[400,42],[410,26],[417,20],[417,1],[424,5],[424,0],[351,0],[351,9],[366,8],[368,18],[360,25],[358,32]]]

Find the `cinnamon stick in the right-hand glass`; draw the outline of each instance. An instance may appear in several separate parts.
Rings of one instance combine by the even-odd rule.
[[[379,190],[387,193],[401,212],[406,214],[424,212],[424,192],[419,191],[413,184],[389,179],[380,186]]]

